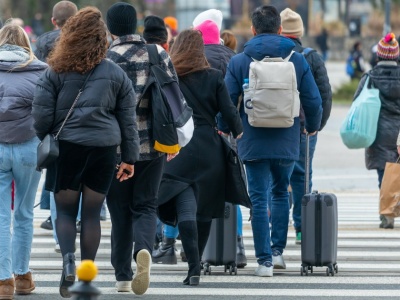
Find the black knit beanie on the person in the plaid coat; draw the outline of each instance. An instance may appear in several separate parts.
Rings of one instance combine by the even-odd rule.
[[[107,27],[111,34],[134,34],[137,25],[136,9],[125,2],[113,4],[107,11]]]

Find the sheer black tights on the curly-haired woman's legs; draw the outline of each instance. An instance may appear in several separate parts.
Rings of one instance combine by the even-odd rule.
[[[56,232],[61,253],[73,253],[76,240],[76,217],[81,191],[60,190],[56,200]],[[105,195],[87,186],[82,187],[81,207],[81,259],[94,260],[101,238],[100,211]]]

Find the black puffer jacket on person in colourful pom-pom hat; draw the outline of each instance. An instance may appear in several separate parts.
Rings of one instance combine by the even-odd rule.
[[[384,169],[386,162],[395,162],[398,153],[396,140],[400,130],[400,66],[396,62],[378,62],[368,73],[370,82],[379,90],[381,111],[374,143],[365,149],[368,170]],[[354,99],[364,87],[365,74],[358,85]]]

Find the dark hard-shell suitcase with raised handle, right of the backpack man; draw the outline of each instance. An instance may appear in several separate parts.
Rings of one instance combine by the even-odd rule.
[[[309,137],[306,139],[305,191],[301,205],[300,274],[313,273],[313,267],[326,266],[326,275],[334,276],[337,266],[338,210],[334,194],[309,193]]]

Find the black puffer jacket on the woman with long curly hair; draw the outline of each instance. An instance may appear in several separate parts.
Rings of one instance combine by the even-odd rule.
[[[39,79],[33,100],[34,128],[40,140],[57,133],[88,74],[48,69]],[[115,63],[96,66],[65,123],[59,139],[84,146],[121,145],[122,161],[139,158],[136,97],[132,83]]]

